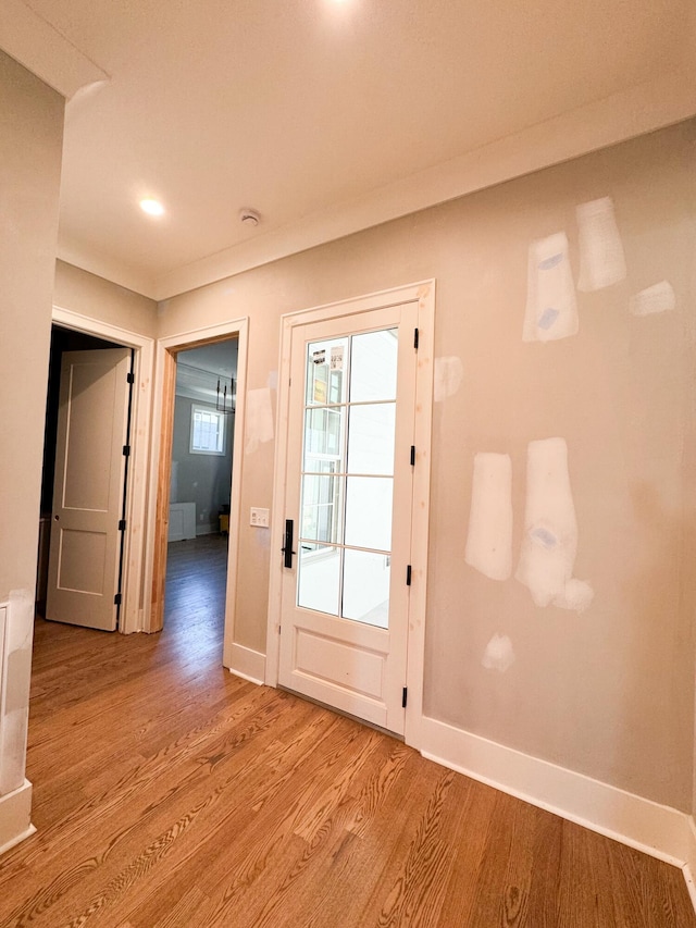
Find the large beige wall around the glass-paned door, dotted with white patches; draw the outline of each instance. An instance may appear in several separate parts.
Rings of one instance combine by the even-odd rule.
[[[587,156],[182,295],[160,334],[250,318],[249,389],[273,384],[281,313],[427,277],[436,356],[458,391],[435,405],[425,712],[461,729],[681,809],[691,809],[694,722],[694,313],[696,124]],[[523,343],[530,243],[575,207],[611,197],[625,280],[577,293],[580,331]],[[676,308],[630,312],[668,281]],[[452,363],[457,363],[456,361]],[[273,395],[275,399],[275,395]],[[512,460],[513,569],[526,447],[562,437],[579,525],[583,613],[537,607],[515,579],[464,564],[473,456]],[[243,512],[270,506],[273,443],[249,449]],[[269,552],[245,525],[236,639],[264,649]],[[510,639],[507,670],[482,661]]]

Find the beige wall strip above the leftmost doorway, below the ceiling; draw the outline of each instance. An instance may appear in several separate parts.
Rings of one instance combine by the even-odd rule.
[[[53,304],[149,338],[157,334],[154,300],[64,261],[55,263]]]

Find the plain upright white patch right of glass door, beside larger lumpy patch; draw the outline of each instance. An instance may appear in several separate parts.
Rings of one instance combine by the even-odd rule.
[[[474,456],[467,564],[492,580],[512,574],[512,461],[510,455]]]

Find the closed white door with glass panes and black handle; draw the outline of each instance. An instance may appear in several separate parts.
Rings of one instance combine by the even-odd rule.
[[[417,320],[401,304],[296,325],[290,345],[278,681],[397,733]]]

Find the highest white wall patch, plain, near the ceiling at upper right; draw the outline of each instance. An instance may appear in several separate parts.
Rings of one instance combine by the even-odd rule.
[[[581,203],[575,215],[580,234],[577,289],[589,293],[623,281],[626,261],[611,197]]]

